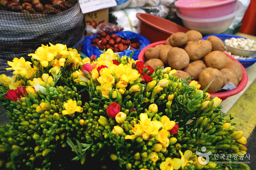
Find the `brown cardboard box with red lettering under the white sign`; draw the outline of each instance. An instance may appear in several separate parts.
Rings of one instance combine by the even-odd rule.
[[[103,22],[108,23],[108,8],[100,9],[97,11],[85,13],[85,22],[86,26],[93,26],[94,29]],[[92,35],[92,32],[87,33],[86,35]]]

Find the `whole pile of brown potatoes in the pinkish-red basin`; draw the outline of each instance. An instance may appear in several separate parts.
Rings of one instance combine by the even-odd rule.
[[[225,45],[217,36],[209,36],[203,40],[200,32],[190,30],[186,33],[172,34],[165,45],[149,47],[145,51],[148,60],[145,65],[156,69],[157,66],[170,66],[177,70],[178,78],[193,77],[198,81],[201,89],[214,80],[207,92],[215,93],[228,82],[235,86],[242,80],[242,67],[233,61],[223,51]]]

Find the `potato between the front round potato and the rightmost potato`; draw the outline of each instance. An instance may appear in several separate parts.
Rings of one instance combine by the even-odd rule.
[[[228,82],[233,83],[235,86],[238,86],[239,76],[237,73],[235,73],[234,70],[225,68],[221,69],[220,72],[222,73],[224,80],[222,87],[224,87]]]

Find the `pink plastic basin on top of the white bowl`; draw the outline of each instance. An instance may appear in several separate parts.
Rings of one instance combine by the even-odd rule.
[[[217,2],[203,5],[197,3]],[[174,3],[182,15],[191,18],[217,18],[234,12],[237,0],[178,0]]]

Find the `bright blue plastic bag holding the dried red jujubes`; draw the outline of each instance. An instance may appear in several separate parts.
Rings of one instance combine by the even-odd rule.
[[[140,50],[125,50],[121,53],[117,53],[120,57],[122,57],[124,55],[126,55],[127,57],[130,57],[130,53],[131,53],[131,51],[133,51],[134,52],[133,59],[137,60],[140,51],[145,46],[150,44],[149,40],[145,36],[140,35],[140,34],[136,34],[136,33],[131,32],[131,31],[120,31],[120,32],[116,32],[115,34],[118,35],[121,38],[129,39],[129,40],[130,39],[137,39],[138,42],[140,43]],[[96,58],[98,58],[98,57],[100,57],[100,54],[102,54],[98,47],[95,47],[95,46],[92,45],[92,39],[96,38],[96,36],[98,36],[98,34],[85,36],[85,38],[84,38],[84,42],[82,44],[82,53],[84,53],[88,57],[90,57],[92,55],[96,55]]]

